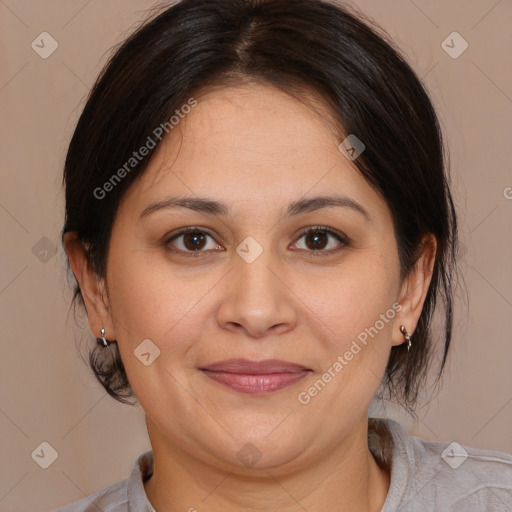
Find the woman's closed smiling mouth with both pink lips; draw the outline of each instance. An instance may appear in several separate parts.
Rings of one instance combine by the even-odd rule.
[[[305,366],[278,359],[229,359],[200,370],[219,384],[246,394],[278,391],[297,383],[312,372]]]

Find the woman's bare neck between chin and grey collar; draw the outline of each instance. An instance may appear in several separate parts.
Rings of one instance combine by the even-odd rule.
[[[316,453],[315,459],[249,470],[205,463],[159,435],[146,419],[154,454],[146,495],[157,512],[379,512],[389,489],[389,470],[380,468],[370,453],[367,418],[363,420],[353,434]]]

